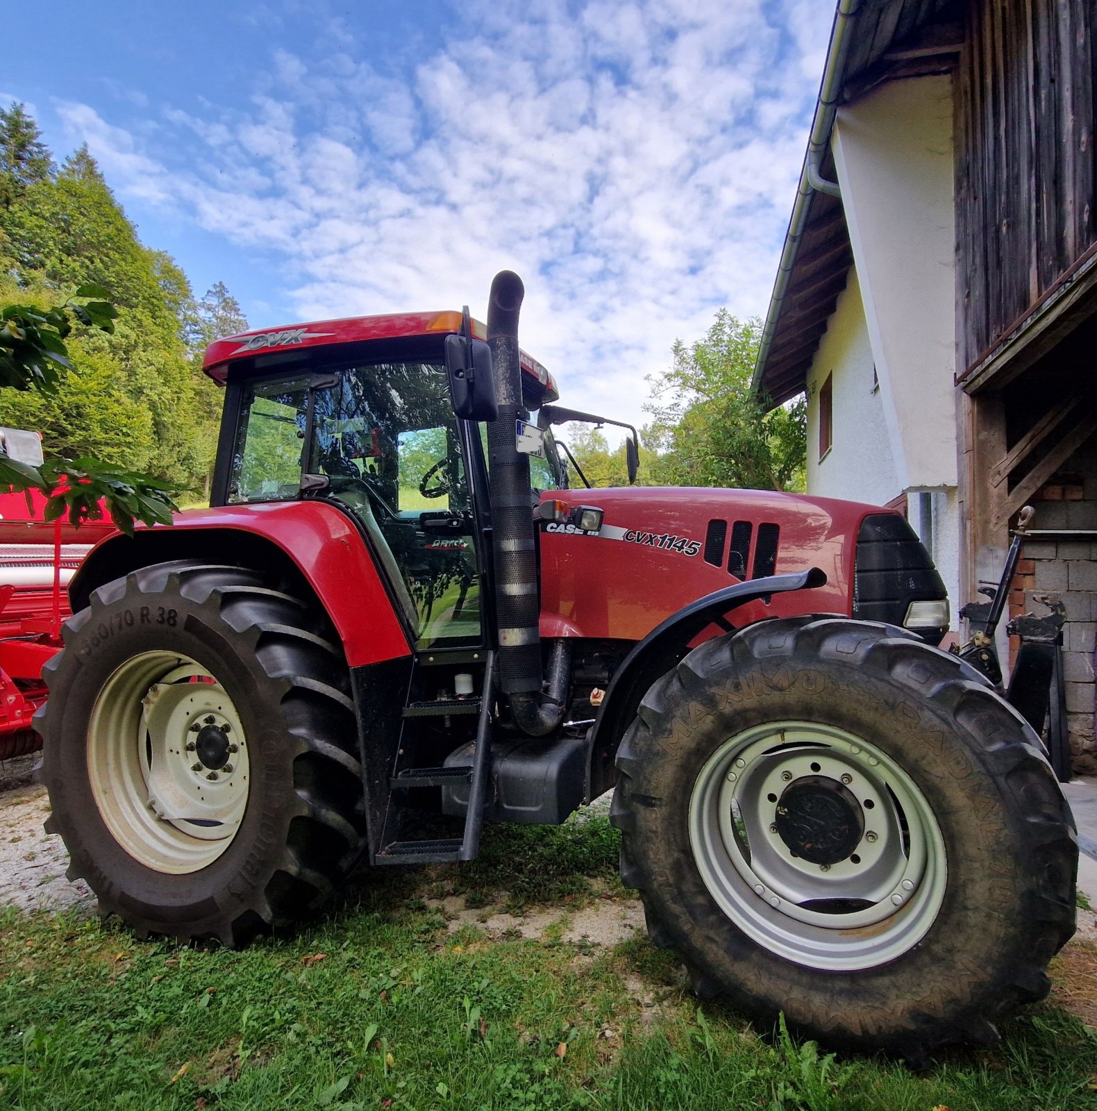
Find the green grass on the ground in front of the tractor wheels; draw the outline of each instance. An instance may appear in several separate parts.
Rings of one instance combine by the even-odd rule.
[[[296,937],[243,952],[0,914],[0,1107],[784,1109],[1097,1105],[1097,1034],[1030,1009],[932,1073],[838,1059],[696,1001],[666,951],[447,934],[427,901],[613,897],[605,819],[485,831],[471,868],[385,873]],[[593,889],[592,889],[593,883]],[[507,893],[509,894],[505,894]],[[321,955],[322,954],[322,955]],[[561,1048],[563,1047],[563,1049]],[[389,1102],[391,1101],[391,1102]]]

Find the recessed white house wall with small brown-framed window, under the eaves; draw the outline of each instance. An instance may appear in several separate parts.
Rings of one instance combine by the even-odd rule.
[[[832,447],[819,459],[819,387],[831,376]],[[807,376],[807,489],[825,498],[883,506],[903,492],[879,390],[856,270],[838,297]]]

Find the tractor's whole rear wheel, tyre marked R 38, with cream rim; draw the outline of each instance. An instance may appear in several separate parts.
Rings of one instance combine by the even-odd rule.
[[[326,619],[179,561],[95,590],[46,669],[50,832],[103,915],[227,945],[311,913],[364,843],[354,707]]]

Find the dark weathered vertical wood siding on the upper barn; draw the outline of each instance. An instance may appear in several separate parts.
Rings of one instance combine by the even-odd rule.
[[[957,74],[957,371],[1094,242],[1097,0],[972,0]]]

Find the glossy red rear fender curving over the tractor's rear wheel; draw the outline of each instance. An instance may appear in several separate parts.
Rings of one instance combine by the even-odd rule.
[[[100,542],[69,584],[76,613],[91,592],[139,567],[177,559],[250,567],[312,595],[331,619],[351,668],[411,654],[366,541],[333,506],[319,501],[224,506],[181,513],[170,527]]]

